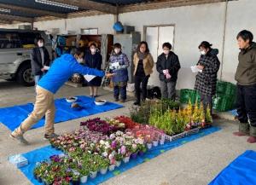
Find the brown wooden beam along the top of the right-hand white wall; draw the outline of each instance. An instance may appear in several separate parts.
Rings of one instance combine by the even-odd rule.
[[[144,11],[149,9],[166,9],[172,7],[191,6],[205,3],[219,3],[226,0],[166,0],[154,3],[138,3],[119,7],[119,14]]]

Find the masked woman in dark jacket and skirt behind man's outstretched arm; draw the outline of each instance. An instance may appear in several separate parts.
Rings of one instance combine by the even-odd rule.
[[[90,44],[90,52],[85,54],[84,58],[85,66],[90,68],[96,68],[102,70],[102,55],[99,52],[96,52],[96,44]],[[102,78],[96,77],[88,82],[90,88],[90,96],[96,97],[98,95],[98,87],[102,84]]]

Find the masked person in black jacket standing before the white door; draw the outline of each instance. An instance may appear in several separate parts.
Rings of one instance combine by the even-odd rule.
[[[163,53],[159,55],[156,62],[156,69],[159,72],[162,98],[175,100],[175,87],[177,84],[177,72],[180,63],[177,55],[171,49],[171,43],[163,43]]]

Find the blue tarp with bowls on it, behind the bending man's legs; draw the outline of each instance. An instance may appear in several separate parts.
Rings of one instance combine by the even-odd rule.
[[[55,123],[68,121],[71,119],[79,119],[84,116],[89,116],[96,113],[103,113],[113,109],[123,107],[122,105],[107,102],[103,106],[96,106],[95,99],[80,95],[78,96],[78,103],[83,107],[81,110],[73,110],[64,98],[55,100]],[[15,130],[20,123],[27,118],[28,114],[33,110],[33,104],[28,103],[26,105],[15,107],[0,108],[0,123],[6,125],[9,130]],[[38,124],[33,125],[32,129],[44,126],[44,118],[41,119]]]

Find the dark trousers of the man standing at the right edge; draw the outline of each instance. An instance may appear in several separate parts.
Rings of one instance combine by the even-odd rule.
[[[237,85],[236,108],[241,123],[256,126],[256,84]]]

